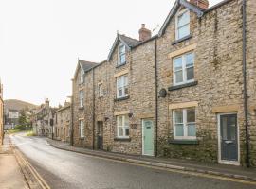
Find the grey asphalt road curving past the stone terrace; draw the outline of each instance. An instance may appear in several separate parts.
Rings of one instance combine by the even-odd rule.
[[[45,138],[11,136],[53,189],[255,189],[255,185],[157,170],[64,151]]]

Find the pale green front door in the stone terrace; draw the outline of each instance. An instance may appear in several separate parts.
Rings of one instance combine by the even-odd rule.
[[[154,156],[154,125],[151,119],[142,120],[142,153]]]

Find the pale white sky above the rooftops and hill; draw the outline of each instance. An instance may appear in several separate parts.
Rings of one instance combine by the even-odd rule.
[[[210,0],[210,6],[220,1]],[[156,33],[173,5],[174,0],[0,0],[4,98],[64,104],[78,59],[105,60],[117,32],[137,39],[142,23]]]

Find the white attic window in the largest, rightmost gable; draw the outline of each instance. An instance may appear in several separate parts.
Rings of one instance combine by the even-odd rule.
[[[182,10],[176,17],[176,40],[190,35],[190,10]]]

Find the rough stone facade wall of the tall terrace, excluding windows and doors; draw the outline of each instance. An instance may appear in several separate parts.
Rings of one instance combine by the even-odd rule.
[[[256,153],[256,84],[255,84],[255,6],[247,1],[247,80],[249,103],[249,129],[251,163]],[[155,37],[127,51],[126,64],[117,67],[118,50],[108,61],[102,62],[85,73],[85,82],[73,85],[74,140],[75,146],[97,148],[98,123],[103,123],[103,149],[128,154],[142,154],[141,121],[150,118],[155,123],[155,41],[157,62],[157,91],[166,89],[167,97],[158,96],[159,156],[185,158],[205,162],[218,162],[217,115],[235,112],[238,118],[240,162],[245,163],[245,115],[243,98],[242,62],[242,13],[241,0],[226,2],[217,9],[210,9],[198,18],[191,11],[192,37],[174,43],[175,24],[172,19],[163,36]],[[173,43],[173,44],[172,44]],[[186,52],[194,52],[193,86],[172,89],[173,58]],[[127,73],[129,97],[116,99],[116,77]],[[103,95],[99,96],[99,83]],[[170,88],[171,87],[171,88]],[[170,90],[169,90],[170,88]],[[79,90],[83,89],[84,109],[79,109]],[[172,106],[194,103],[196,111],[196,139],[198,144],[174,144]],[[170,108],[171,107],[171,108]],[[117,139],[116,114],[129,114],[130,139]],[[85,121],[85,137],[79,137],[79,119]]]

